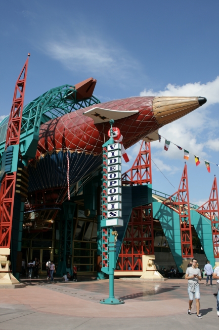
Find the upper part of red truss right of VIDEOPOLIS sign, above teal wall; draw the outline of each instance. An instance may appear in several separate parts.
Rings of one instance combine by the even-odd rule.
[[[142,141],[139,154],[130,170],[122,174],[123,185],[138,185],[152,183],[151,175],[151,146],[150,142],[145,142],[145,149]]]

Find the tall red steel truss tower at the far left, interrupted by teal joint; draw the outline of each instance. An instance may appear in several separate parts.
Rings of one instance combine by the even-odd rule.
[[[20,142],[20,130],[22,111],[24,105],[24,93],[27,77],[28,60],[16,81],[12,108],[7,129],[6,146],[18,145]],[[14,197],[17,172],[7,173],[1,184],[0,191],[0,248],[10,248],[12,219],[14,210]]]

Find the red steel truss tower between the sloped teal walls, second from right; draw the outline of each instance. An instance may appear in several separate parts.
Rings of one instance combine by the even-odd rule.
[[[182,258],[193,258],[192,227],[189,205],[189,185],[187,165],[185,164],[179,189],[163,202],[169,208],[179,213],[181,230]]]

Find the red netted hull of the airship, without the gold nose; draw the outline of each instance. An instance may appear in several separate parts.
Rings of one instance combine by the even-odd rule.
[[[133,111],[139,113],[116,120],[114,126],[120,129],[125,149],[134,145],[160,125],[152,111],[153,96],[129,97],[98,105],[99,108]],[[40,126],[37,158],[48,151],[69,149],[77,152],[100,154],[102,145],[108,140],[109,121],[94,124],[94,120],[83,115],[85,111],[97,107],[80,109]],[[113,113],[112,113],[112,118]]]

